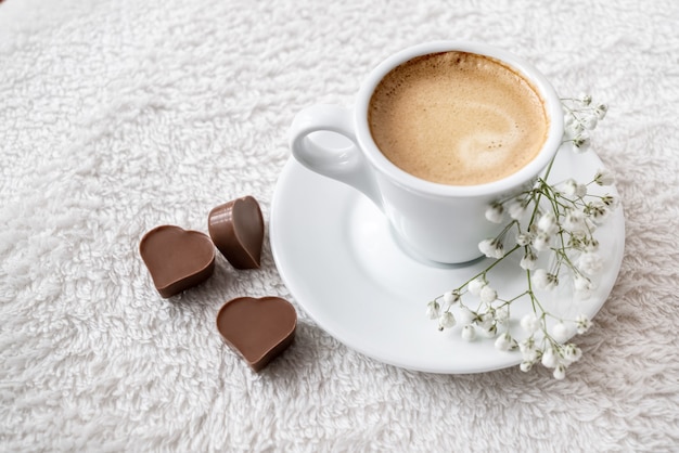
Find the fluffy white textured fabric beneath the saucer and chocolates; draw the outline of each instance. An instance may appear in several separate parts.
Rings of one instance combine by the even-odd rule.
[[[0,451],[677,449],[678,22],[674,0],[2,2]],[[593,147],[626,253],[566,379],[354,352],[296,305],[268,241],[259,270],[218,255],[205,284],[157,295],[145,231],[207,232],[246,194],[268,229],[294,114],[350,104],[381,60],[434,39],[503,47],[611,106]],[[215,314],[266,295],[299,324],[256,375]]]

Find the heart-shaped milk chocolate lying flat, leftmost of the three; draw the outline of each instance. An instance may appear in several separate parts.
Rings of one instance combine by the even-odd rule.
[[[215,246],[197,231],[156,226],[144,234],[139,253],[165,298],[204,282],[215,271]]]

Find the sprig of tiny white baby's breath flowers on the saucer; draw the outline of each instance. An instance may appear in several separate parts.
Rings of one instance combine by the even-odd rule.
[[[564,144],[575,153],[589,150],[590,134],[604,119],[608,107],[594,104],[590,95],[562,99],[564,109]],[[587,296],[595,288],[595,275],[603,268],[599,241],[594,232],[616,208],[618,199],[610,194],[590,193],[592,185],[608,186],[613,174],[600,169],[588,182],[567,179],[548,182],[554,159],[545,174],[535,183],[507,199],[491,203],[486,219],[494,223],[509,221],[496,237],[478,244],[479,250],[495,259],[486,269],[460,286],[446,292],[427,303],[426,314],[438,322],[440,331],[461,325],[464,340],[478,336],[495,338],[501,351],[518,350],[521,370],[527,372],[536,363],[553,370],[556,379],[565,377],[566,367],[581,357],[581,350],[568,339],[591,326],[585,314],[565,320],[549,313],[536,292],[549,292],[562,284],[562,272],[571,275],[574,294]],[[491,271],[508,257],[522,253],[518,266],[525,272],[526,289],[509,299],[501,298],[490,283]],[[547,256],[547,260],[538,260]],[[547,262],[546,267],[538,263]],[[512,337],[509,329],[511,306],[528,298],[533,312],[521,319],[522,340]],[[473,301],[473,303],[470,303]],[[458,318],[451,311],[458,306]]]

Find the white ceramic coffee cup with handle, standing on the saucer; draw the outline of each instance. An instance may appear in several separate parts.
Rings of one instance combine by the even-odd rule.
[[[375,87],[396,66],[415,56],[461,51],[501,61],[529,80],[545,102],[548,135],[538,155],[507,178],[478,185],[447,185],[417,178],[389,161],[370,133],[369,103]],[[315,140],[343,137],[343,146]],[[398,52],[363,81],[350,107],[315,105],[299,112],[290,130],[292,154],[306,168],[351,185],[384,212],[400,243],[423,260],[462,263],[478,258],[478,243],[501,226],[485,218],[487,206],[530,183],[549,164],[563,139],[561,101],[547,78],[513,54],[487,44],[436,41]]]

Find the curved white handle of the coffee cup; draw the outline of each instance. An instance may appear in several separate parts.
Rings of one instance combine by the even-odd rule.
[[[299,164],[353,186],[382,209],[374,174],[356,142],[351,109],[313,105],[300,111],[290,130],[290,147]]]

